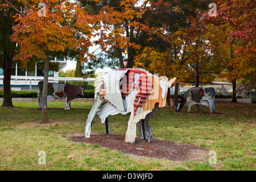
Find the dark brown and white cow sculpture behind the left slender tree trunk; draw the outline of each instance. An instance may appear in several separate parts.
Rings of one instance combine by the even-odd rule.
[[[39,107],[42,108],[42,92],[43,92],[43,81],[39,81],[38,88],[40,90],[38,102]],[[70,84],[58,84],[48,83],[47,88],[47,102],[52,101],[54,98],[63,99],[65,98],[64,109],[71,109],[70,102],[78,96],[84,96],[84,90],[87,88],[85,85],[70,85]]]

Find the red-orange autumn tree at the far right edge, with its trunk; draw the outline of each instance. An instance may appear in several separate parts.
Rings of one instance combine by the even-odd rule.
[[[255,76],[255,4],[253,1],[217,1],[218,14],[205,18],[216,33],[211,42],[216,57],[222,61],[222,76],[233,84],[232,102],[236,100],[237,79],[253,83]]]

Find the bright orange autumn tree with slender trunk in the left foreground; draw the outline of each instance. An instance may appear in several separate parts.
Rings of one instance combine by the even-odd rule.
[[[38,8],[39,1],[25,2],[27,11],[22,16],[16,16],[15,21],[18,24],[13,27],[14,34],[11,36],[11,40],[20,47],[14,59],[21,60],[24,67],[32,56],[44,60],[41,122],[47,123],[49,55],[51,52],[64,52],[70,48],[78,51],[80,59],[85,60],[84,55],[90,45],[90,36],[87,36],[90,31],[87,30],[86,34],[81,35],[82,31],[76,19],[80,14],[84,14],[84,11],[75,3],[68,0],[47,0],[44,1],[45,7]],[[80,39],[77,39],[78,36]]]

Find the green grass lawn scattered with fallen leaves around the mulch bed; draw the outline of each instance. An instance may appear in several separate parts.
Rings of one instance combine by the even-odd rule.
[[[1,103],[0,103],[1,105]],[[83,132],[92,102],[71,102],[72,110],[49,109],[55,125],[30,124],[40,121],[37,102],[16,102],[13,109],[0,108],[0,170],[255,170],[256,105],[216,102],[214,114],[187,106],[177,113],[164,107],[150,119],[154,138],[188,143],[216,151],[217,165],[138,158],[95,144],[71,142],[67,133]],[[49,108],[63,108],[64,102],[49,102]],[[125,135],[129,115],[109,117],[112,133]],[[105,132],[100,118],[92,130]],[[139,135],[137,131],[137,135]],[[38,164],[38,152],[46,152],[46,165]]]

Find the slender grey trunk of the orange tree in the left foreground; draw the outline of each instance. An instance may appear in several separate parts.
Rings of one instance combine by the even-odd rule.
[[[48,123],[47,113],[47,93],[48,93],[48,73],[49,73],[49,54],[46,52],[46,59],[44,59],[44,82],[42,93],[42,117],[41,123]]]

